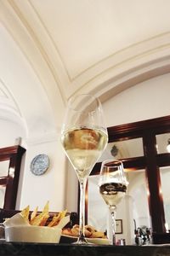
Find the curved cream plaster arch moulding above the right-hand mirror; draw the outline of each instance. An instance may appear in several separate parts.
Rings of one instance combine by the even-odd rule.
[[[152,45],[152,48],[148,47],[147,44],[149,46]],[[139,46],[141,52],[137,54]],[[138,45],[132,45],[128,49],[123,49],[121,52],[112,56],[112,62],[116,58],[115,66],[108,66],[106,69],[103,69],[103,72],[94,76],[91,81],[84,84],[81,90],[77,92],[88,91],[99,96],[101,102],[105,102],[112,96],[133,85],[162,74],[170,73],[169,49],[169,32],[159,37],[151,38],[149,42],[142,42]],[[127,55],[127,51],[128,57],[124,58],[123,52]],[[105,66],[104,64],[103,62],[103,66]]]

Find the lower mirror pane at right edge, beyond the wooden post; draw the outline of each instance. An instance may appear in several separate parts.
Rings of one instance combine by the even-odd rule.
[[[170,229],[170,189],[169,189],[169,177],[170,177],[170,166],[161,167],[161,192],[163,195],[163,206],[165,211],[166,219],[166,230],[169,232]]]

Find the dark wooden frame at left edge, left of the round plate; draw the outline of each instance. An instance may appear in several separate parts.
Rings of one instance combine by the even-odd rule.
[[[9,160],[7,176],[0,177],[0,186],[5,186],[3,208],[15,209],[17,190],[20,177],[20,165],[25,148],[19,145],[0,148],[0,161]]]

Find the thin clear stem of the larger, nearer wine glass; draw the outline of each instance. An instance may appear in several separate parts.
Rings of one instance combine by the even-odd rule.
[[[85,189],[87,177],[79,180],[80,183],[80,216],[79,216],[79,240],[85,241],[84,225],[85,225]]]

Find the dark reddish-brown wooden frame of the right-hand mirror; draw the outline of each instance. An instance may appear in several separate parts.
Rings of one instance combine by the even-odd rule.
[[[161,177],[159,167],[170,166],[170,154],[157,154],[156,135],[170,132],[170,116],[108,128],[109,143],[142,138],[144,156],[122,159],[123,166],[133,172],[145,169],[147,188],[149,190],[148,204],[153,234],[165,234],[165,213],[161,195]],[[101,163],[94,166],[90,175],[99,174]],[[87,189],[88,191],[88,189]],[[88,192],[86,195],[86,221],[88,220]],[[169,238],[170,239],[170,238]],[[165,241],[165,240],[163,240]]]

